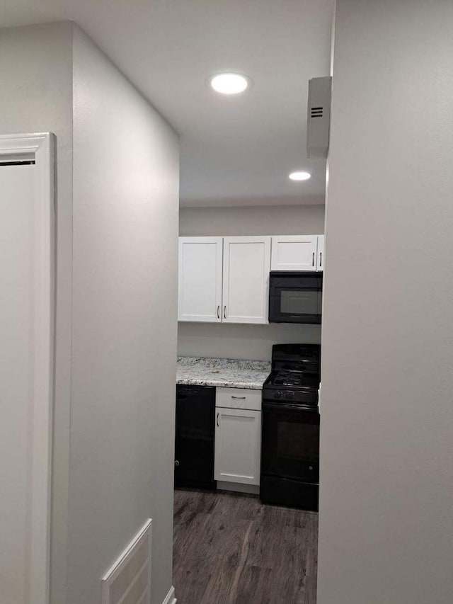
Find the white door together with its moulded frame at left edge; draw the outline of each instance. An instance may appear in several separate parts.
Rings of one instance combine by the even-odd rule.
[[[48,171],[42,173],[38,165],[1,161],[2,146],[16,143],[20,143],[18,137],[7,141],[0,137],[0,602],[45,604],[52,397],[52,176]],[[46,147],[45,156],[49,143],[48,135],[35,141]],[[51,171],[49,162],[45,168]]]

